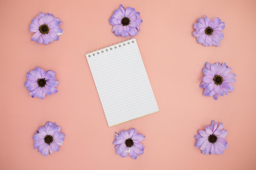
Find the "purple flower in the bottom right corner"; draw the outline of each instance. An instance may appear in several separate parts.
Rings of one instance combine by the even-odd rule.
[[[205,131],[199,130],[198,134],[195,135],[195,139],[197,139],[195,146],[200,148],[202,153],[205,154],[222,154],[223,150],[228,147],[227,141],[225,140],[227,130],[222,130],[222,128],[222,123],[218,127],[217,122],[212,120],[211,125],[205,127]]]

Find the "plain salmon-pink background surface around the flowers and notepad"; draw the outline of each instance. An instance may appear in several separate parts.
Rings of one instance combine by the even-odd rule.
[[[123,4],[141,13],[135,36],[159,112],[108,127],[85,53],[126,40],[108,19]],[[255,0],[0,0],[0,169],[1,170],[255,170],[256,1]],[[32,42],[31,20],[53,13],[63,35],[51,44]],[[204,47],[193,24],[207,15],[225,22],[220,46]],[[226,62],[236,73],[234,92],[203,96],[205,62]],[[58,93],[31,98],[27,71],[54,70]],[[193,137],[211,120],[223,122],[229,147],[204,155]],[[46,121],[66,135],[47,157],[34,147]],[[115,132],[136,128],[146,136],[144,154],[121,158]]]

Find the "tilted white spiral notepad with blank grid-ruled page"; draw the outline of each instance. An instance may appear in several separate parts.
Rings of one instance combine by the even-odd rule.
[[[86,54],[108,126],[159,111],[136,40]]]

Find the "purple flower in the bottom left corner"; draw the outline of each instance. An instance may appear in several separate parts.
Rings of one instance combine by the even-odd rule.
[[[47,156],[54,151],[58,151],[63,144],[65,135],[61,133],[61,126],[48,121],[45,126],[41,126],[33,136],[34,149],[38,148],[38,152]]]

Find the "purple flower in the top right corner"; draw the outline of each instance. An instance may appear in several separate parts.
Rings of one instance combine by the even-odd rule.
[[[194,24],[195,31],[193,35],[198,43],[204,46],[220,46],[220,41],[224,38],[222,31],[225,28],[225,22],[220,18],[214,18],[212,21],[206,16],[199,18],[198,23]]]

